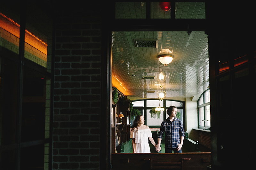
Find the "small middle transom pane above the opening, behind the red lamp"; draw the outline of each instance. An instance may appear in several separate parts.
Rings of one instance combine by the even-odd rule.
[[[164,11],[160,7],[160,3],[163,2],[151,2],[150,10],[151,10],[151,18],[156,19],[170,19],[171,18],[171,10]]]

